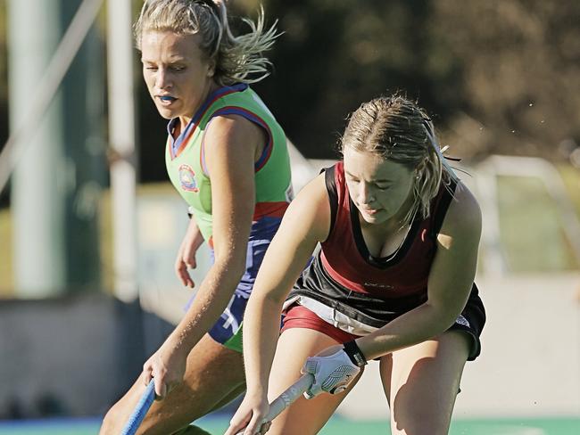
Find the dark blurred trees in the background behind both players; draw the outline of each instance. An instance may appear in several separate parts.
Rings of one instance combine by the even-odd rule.
[[[134,1],[136,17],[142,4]],[[255,17],[260,4],[267,23],[278,19],[284,34],[268,53],[271,77],[253,87],[308,157],[336,156],[348,113],[397,90],[418,98],[461,157],[498,152],[558,160],[572,151],[566,144],[580,143],[580,2],[230,0],[228,6],[235,16]],[[0,1],[0,138],[7,135],[4,28]],[[146,94],[140,65],[136,80],[141,177],[165,180],[165,121]]]

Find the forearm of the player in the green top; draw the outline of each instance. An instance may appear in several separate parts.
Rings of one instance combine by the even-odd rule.
[[[214,263],[200,285],[191,307],[167,341],[186,353],[201,340],[228,306],[243,275],[241,267]]]

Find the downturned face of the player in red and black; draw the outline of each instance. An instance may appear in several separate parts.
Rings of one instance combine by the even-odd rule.
[[[351,199],[365,222],[383,224],[404,217],[415,176],[413,170],[346,146],[344,173]]]

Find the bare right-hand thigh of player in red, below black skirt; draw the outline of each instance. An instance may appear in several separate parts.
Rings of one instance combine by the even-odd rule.
[[[393,435],[448,433],[470,340],[465,332],[443,332],[381,358]]]

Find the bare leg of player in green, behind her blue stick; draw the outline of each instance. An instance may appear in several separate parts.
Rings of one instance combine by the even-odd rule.
[[[243,389],[242,354],[223,347],[206,334],[187,357],[184,382],[163,400],[153,402],[137,433],[167,435],[179,431],[225,405],[226,398],[235,398]],[[144,390],[145,384],[137,379],[105,415],[100,433],[120,433]]]

